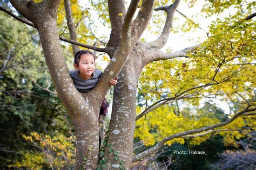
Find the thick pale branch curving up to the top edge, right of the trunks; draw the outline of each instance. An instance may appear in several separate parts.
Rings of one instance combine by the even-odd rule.
[[[168,7],[157,9],[157,10],[165,10],[167,12],[167,17],[166,17],[163,32],[161,33],[160,37],[157,40],[154,40],[152,42],[148,42],[147,44],[149,44],[149,46],[162,48],[166,44],[166,42],[169,38],[170,30],[172,28],[174,12],[176,11],[179,3],[180,3],[180,0],[176,0],[176,1],[174,1],[173,4],[171,4]]]

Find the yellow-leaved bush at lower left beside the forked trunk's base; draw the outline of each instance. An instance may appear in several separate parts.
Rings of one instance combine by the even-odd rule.
[[[23,159],[9,167],[29,169],[70,168],[75,165],[75,146],[72,137],[59,134],[55,137],[32,132],[30,136],[23,135],[33,147],[33,150],[25,151]]]

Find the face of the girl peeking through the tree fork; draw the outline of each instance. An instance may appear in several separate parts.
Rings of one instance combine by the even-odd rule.
[[[90,79],[93,76],[93,72],[95,70],[95,61],[94,57],[91,54],[82,54],[80,56],[80,60],[78,65],[74,63],[73,65],[76,69],[79,70],[79,77],[86,80]]]

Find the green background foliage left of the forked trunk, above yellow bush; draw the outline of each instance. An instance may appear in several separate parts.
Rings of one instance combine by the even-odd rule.
[[[21,133],[70,135],[66,111],[51,82],[35,29],[0,12],[0,168],[31,145]]]

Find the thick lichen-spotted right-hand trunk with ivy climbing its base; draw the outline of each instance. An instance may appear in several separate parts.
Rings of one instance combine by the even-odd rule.
[[[125,168],[130,169],[131,166],[136,118],[136,90],[141,70],[142,62],[136,51],[132,51],[119,73],[118,83],[114,88],[109,139],[107,140],[107,144],[111,145],[113,152],[109,152],[109,146],[106,146],[105,151],[105,158],[109,162],[107,166],[110,169],[118,167],[117,165],[121,166],[121,161],[124,161]],[[114,151],[117,151],[118,154]]]

